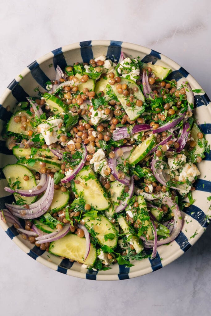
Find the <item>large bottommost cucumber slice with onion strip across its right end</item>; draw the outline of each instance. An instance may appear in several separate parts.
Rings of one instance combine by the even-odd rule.
[[[52,241],[49,252],[87,265],[93,265],[97,258],[96,248],[91,244],[90,253],[84,261],[86,239],[80,238],[76,234],[68,234],[65,237]]]

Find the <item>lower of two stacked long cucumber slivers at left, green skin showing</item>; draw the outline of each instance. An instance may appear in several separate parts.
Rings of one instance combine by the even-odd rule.
[[[44,162],[46,164],[45,168],[47,169],[55,169],[59,171],[61,169],[61,165],[57,160],[53,159],[45,159],[45,158],[36,158],[36,159],[22,159],[17,161],[17,164],[27,167],[30,170],[39,171],[40,163]],[[29,164],[30,163],[30,164]]]

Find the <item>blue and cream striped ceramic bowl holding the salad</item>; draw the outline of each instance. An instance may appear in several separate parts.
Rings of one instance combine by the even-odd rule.
[[[166,56],[151,50],[149,48],[138,46],[130,43],[119,41],[85,41],[60,47],[38,58],[27,68],[21,72],[21,76],[17,76],[7,87],[0,98],[0,132],[3,125],[11,116],[11,112],[18,101],[23,101],[27,96],[36,96],[36,88],[39,87],[41,92],[45,91],[45,83],[55,78],[56,66],[62,69],[66,65],[74,62],[89,62],[93,57],[106,55],[113,61],[118,61],[121,50],[127,56],[134,58],[140,57],[144,62],[152,61],[153,64],[162,65],[171,68],[173,71],[168,79],[180,80],[186,78],[192,89],[202,89],[195,79],[177,63]],[[10,111],[6,110],[10,106]],[[195,116],[201,125],[202,131],[206,134],[206,138],[211,143],[211,102],[206,93],[195,94]],[[5,146],[5,142],[0,140],[0,168],[8,163],[14,163],[15,157],[11,151]],[[211,215],[209,210],[209,202],[207,197],[211,192],[211,152],[206,154],[205,160],[200,165],[201,175],[195,182],[196,190],[193,192],[195,199],[194,205],[189,206],[182,212],[183,229],[179,236],[170,245],[158,247],[157,257],[155,259],[144,259],[142,261],[132,261],[134,266],[127,268],[124,265],[115,264],[107,271],[93,271],[81,268],[81,265],[70,262],[68,259],[61,260],[59,257],[53,256],[48,252],[40,250],[28,241],[23,240],[17,234],[13,226],[8,226],[0,221],[0,224],[6,234],[30,257],[36,261],[45,264],[49,268],[65,273],[67,275],[87,278],[91,280],[122,280],[136,276],[141,276],[152,271],[158,270],[171,263],[187,251],[203,234],[208,226],[208,218]],[[7,185],[6,179],[3,179],[3,173],[0,171],[0,208],[4,208],[5,202],[10,202],[9,193],[3,190]],[[195,237],[193,237],[195,236]],[[23,257],[24,260],[24,257]]]

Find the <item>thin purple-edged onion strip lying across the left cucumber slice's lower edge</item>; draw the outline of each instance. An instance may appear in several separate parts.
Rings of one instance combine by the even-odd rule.
[[[10,189],[8,186],[4,187],[4,190],[9,193],[18,193],[24,197],[34,197],[42,193],[47,189],[48,181],[47,181],[47,175],[44,173],[41,173],[40,175],[40,182],[37,186],[30,190],[21,190],[21,189]],[[38,186],[42,186],[41,189],[37,189]]]

